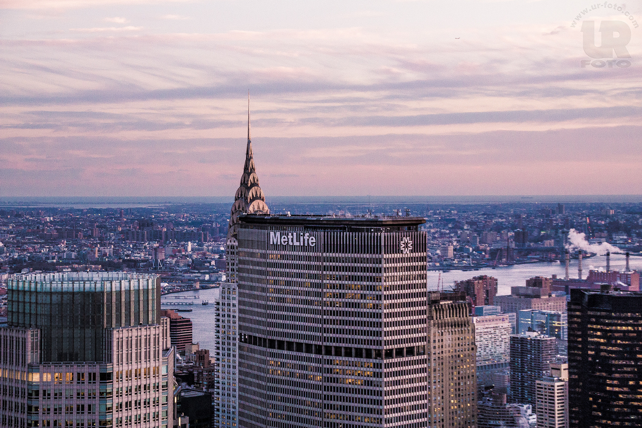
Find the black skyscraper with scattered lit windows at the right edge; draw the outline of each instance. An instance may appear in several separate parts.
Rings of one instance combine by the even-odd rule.
[[[569,425],[642,425],[642,293],[571,289],[568,316]]]

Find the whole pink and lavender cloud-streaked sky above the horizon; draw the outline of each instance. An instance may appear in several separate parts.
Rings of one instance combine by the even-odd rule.
[[[582,67],[582,1],[344,3],[0,0],[0,196],[233,194],[248,89],[268,195],[641,193],[641,29]]]

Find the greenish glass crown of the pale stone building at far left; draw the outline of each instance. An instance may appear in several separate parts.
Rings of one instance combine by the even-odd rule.
[[[43,361],[103,361],[105,329],[158,324],[160,278],[45,273],[8,280],[8,325],[36,327]]]

